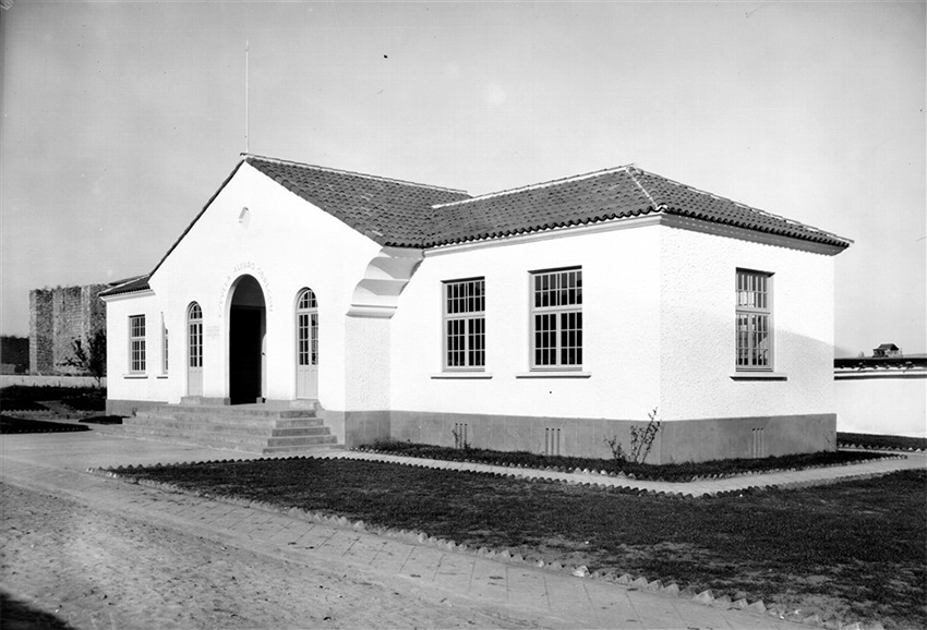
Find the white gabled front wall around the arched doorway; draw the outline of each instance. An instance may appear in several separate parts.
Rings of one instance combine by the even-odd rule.
[[[249,217],[240,222],[242,207],[249,208]],[[149,281],[157,298],[146,307],[162,312],[170,330],[169,377],[146,396],[110,377],[110,398],[179,402],[186,395],[186,310],[193,301],[203,310],[203,396],[227,398],[230,290],[241,276],[250,275],[261,284],[266,308],[264,396],[296,397],[294,307],[299,291],[309,287],[318,300],[318,399],[326,409],[344,410],[345,313],[380,250],[372,240],[242,165]],[[118,303],[109,302],[108,307]],[[129,310],[133,308],[137,310]],[[112,326],[122,326],[120,317],[109,319]],[[123,329],[109,332],[111,340],[127,338]],[[153,332],[149,329],[149,344]]]

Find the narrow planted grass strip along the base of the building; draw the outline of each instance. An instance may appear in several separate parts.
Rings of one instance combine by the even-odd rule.
[[[842,465],[869,459],[879,459],[878,453],[824,451],[804,455],[788,455],[763,459],[727,459],[705,462],[684,462],[677,464],[648,464],[623,462],[617,465],[611,459],[580,457],[553,457],[527,451],[499,451],[479,448],[448,448],[429,444],[414,444],[394,439],[377,440],[361,450],[374,450],[407,457],[440,459],[449,461],[471,461],[478,463],[514,465],[531,469],[571,472],[577,469],[589,471],[623,472],[638,480],[663,482],[690,482],[700,477],[724,477],[750,472],[770,472],[778,470],[800,470],[828,465]]]

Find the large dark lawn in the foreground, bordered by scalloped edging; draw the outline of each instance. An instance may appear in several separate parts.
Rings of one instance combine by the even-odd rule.
[[[927,627],[927,472],[678,499],[356,460],[121,471],[471,547],[711,589],[886,628]]]

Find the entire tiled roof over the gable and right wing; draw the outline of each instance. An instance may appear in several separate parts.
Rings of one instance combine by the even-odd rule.
[[[245,155],[244,161],[381,245],[435,247],[649,214],[839,247],[852,242],[636,167],[470,197],[462,191],[261,156]]]

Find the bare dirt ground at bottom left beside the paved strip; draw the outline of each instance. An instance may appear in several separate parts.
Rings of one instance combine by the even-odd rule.
[[[75,628],[545,626],[4,483],[0,541],[0,590]]]

